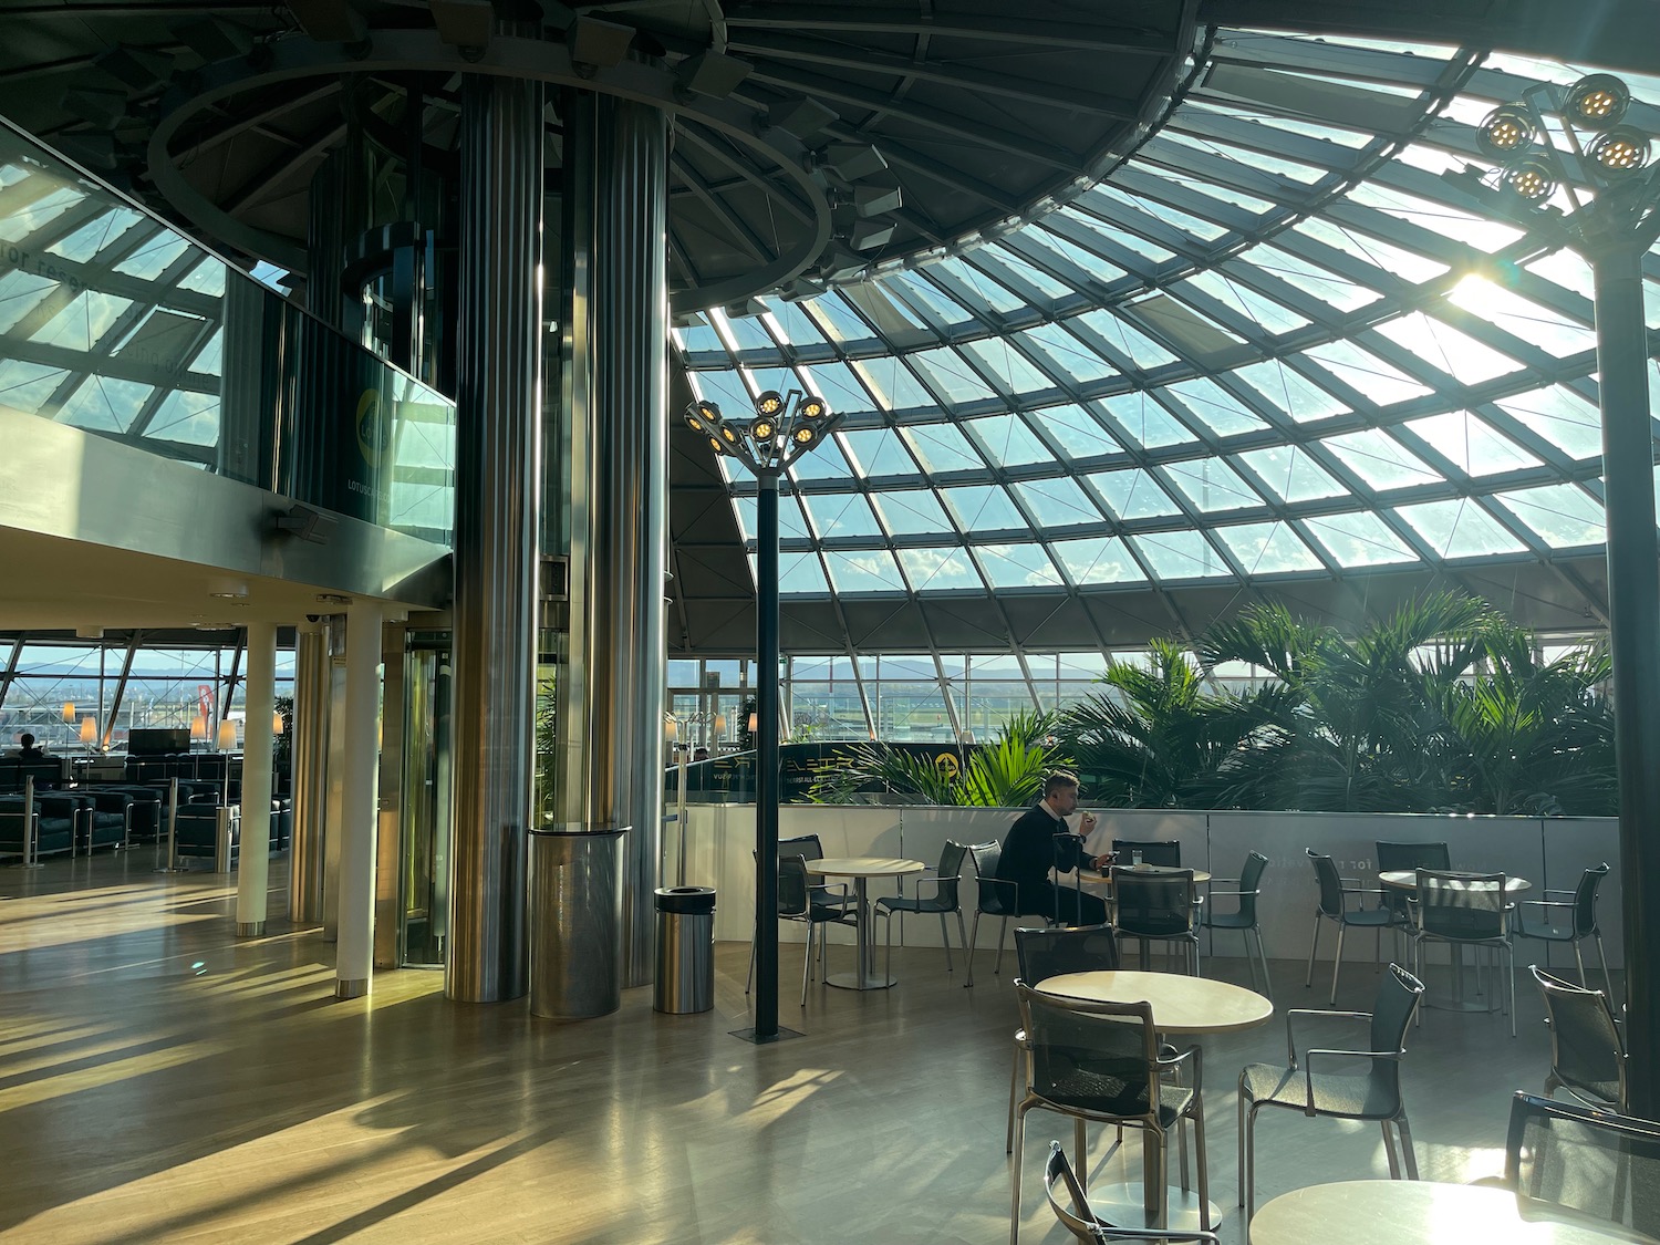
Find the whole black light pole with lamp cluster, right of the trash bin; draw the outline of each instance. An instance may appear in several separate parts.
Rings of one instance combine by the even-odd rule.
[[[779,1028],[779,480],[837,417],[792,388],[757,397],[749,423],[722,418],[714,402],[694,402],[686,422],[755,476],[755,1026],[734,1036],[775,1042],[797,1036]]]

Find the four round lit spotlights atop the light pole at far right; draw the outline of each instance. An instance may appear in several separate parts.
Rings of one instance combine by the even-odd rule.
[[[1567,136],[1589,173],[1614,183],[1648,163],[1648,134],[1622,124],[1632,93],[1612,73],[1592,73],[1574,83],[1557,108]],[[1582,146],[1580,133],[1594,134]],[[1544,120],[1531,103],[1494,108],[1481,123],[1476,143],[1499,166],[1499,186],[1529,206],[1544,206],[1557,191],[1557,161]]]

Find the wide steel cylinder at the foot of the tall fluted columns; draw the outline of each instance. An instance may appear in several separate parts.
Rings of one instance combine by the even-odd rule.
[[[530,1009],[579,1021],[622,1006],[622,835],[561,825],[530,835]]]

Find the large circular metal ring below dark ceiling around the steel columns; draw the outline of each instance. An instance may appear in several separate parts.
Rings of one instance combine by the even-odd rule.
[[[676,290],[671,307],[686,314],[777,289],[800,276],[830,241],[830,201],[822,179],[808,171],[808,151],[793,136],[769,128],[765,113],[732,100],[699,98],[687,101],[677,93],[677,83],[667,70],[641,61],[622,61],[611,68],[578,71],[569,50],[561,43],[536,38],[498,37],[476,60],[442,38],[437,32],[397,30],[375,32],[364,46],[350,55],[342,45],[314,43],[309,38],[284,38],[264,45],[257,63],[236,56],[201,68],[191,90],[174,88],[161,101],[161,111],[149,134],[149,176],[156,188],[188,216],[198,227],[222,237],[237,249],[261,256],[297,272],[307,267],[304,247],[286,237],[237,221],[231,212],[198,191],[179,171],[171,151],[171,141],[196,116],[217,103],[246,91],[345,73],[483,73],[501,78],[523,78],[553,86],[614,95],[661,108],[671,116],[696,121],[742,144],[770,164],[775,174],[788,183],[769,186],[770,193],[788,198],[792,206],[808,217],[808,227],[770,262],[749,272],[710,284]],[[471,50],[470,50],[471,51]],[[772,183],[772,178],[769,178]]]

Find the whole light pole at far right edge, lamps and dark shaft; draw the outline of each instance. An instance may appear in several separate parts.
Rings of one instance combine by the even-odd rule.
[[[1446,176],[1524,227],[1544,229],[1550,242],[1577,251],[1595,281],[1625,878],[1625,1049],[1638,1056],[1630,1061],[1627,1087],[1630,1112],[1655,1119],[1660,1077],[1648,1052],[1660,1039],[1660,994],[1650,978],[1660,963],[1660,916],[1648,880],[1660,868],[1660,843],[1653,840],[1660,827],[1660,546],[1642,262],[1660,236],[1660,166],[1647,168],[1648,134],[1623,124],[1630,100],[1625,83],[1612,73],[1589,75],[1565,91],[1545,83],[1531,86],[1517,103],[1489,113],[1477,131],[1477,146],[1494,168]]]

